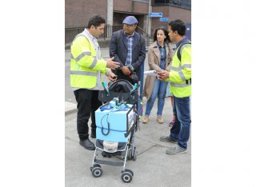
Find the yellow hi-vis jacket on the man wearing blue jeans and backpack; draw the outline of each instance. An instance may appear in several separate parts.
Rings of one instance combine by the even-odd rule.
[[[181,61],[178,59],[178,49],[175,51],[170,68],[170,93],[175,97],[191,95],[191,44],[180,45]]]

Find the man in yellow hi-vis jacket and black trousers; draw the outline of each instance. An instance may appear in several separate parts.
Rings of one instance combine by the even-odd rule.
[[[110,69],[119,67],[119,62],[103,60],[97,39],[104,32],[106,20],[99,15],[90,18],[87,28],[78,34],[70,46],[70,86],[78,102],[77,129],[79,144],[85,149],[94,150],[94,143],[89,140],[88,121],[91,117],[90,137],[96,137],[95,111],[100,105],[98,90],[103,90],[102,74],[110,81],[115,81],[115,74]]]

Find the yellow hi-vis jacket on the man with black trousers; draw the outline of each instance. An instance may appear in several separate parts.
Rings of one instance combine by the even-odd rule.
[[[97,58],[94,44],[85,34],[78,34],[70,46],[70,86],[73,88],[94,88],[97,71],[106,74],[106,61]],[[102,80],[100,80],[102,82]]]

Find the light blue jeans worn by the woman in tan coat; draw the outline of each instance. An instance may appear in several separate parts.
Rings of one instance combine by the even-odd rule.
[[[145,115],[149,116],[150,111],[153,108],[154,100],[158,96],[158,116],[162,115],[162,109],[165,105],[165,96],[166,96],[166,87],[168,82],[161,82],[158,79],[154,82],[154,90],[151,94],[151,97],[148,101],[146,101],[146,113]]]

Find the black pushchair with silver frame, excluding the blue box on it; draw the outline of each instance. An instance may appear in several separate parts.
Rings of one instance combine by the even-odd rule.
[[[126,136],[130,134],[130,138],[127,142],[123,144],[118,144],[118,149],[116,152],[107,152],[103,149],[103,144],[101,140],[96,139],[95,144],[95,151],[94,151],[94,158],[92,165],[90,167],[90,171],[92,172],[92,175],[94,177],[101,177],[102,176],[102,168],[101,165],[114,165],[114,166],[122,166],[122,181],[125,183],[129,183],[132,181],[132,178],[134,176],[134,173],[130,169],[126,169],[126,161],[128,160],[134,160],[136,161],[138,151],[136,150],[136,147],[134,145],[134,133],[139,129],[139,118],[138,118],[138,88],[134,89],[134,86],[126,81],[126,80],[118,80],[117,82],[112,83],[109,86],[109,90],[105,88],[105,90],[99,91],[98,99],[102,102],[109,102],[114,97],[119,97],[119,101],[126,104],[133,105],[134,109],[134,124],[129,129],[129,131],[126,132]],[[117,92],[118,91],[118,92]],[[106,105],[106,104],[104,104]],[[118,157],[122,161],[106,161],[106,160],[100,160],[98,159],[98,152],[102,153],[103,157]]]

